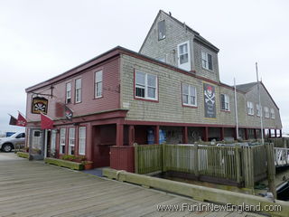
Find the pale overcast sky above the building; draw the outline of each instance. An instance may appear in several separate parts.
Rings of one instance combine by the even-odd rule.
[[[255,62],[289,133],[289,1],[0,1],[0,131],[25,113],[25,88],[121,45],[139,51],[160,9],[219,49],[221,81],[256,81]]]

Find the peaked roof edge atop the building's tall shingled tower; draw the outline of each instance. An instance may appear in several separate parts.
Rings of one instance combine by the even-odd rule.
[[[159,13],[156,15],[156,17],[154,18],[154,23],[152,24],[150,30],[148,31],[148,33],[145,36],[144,42],[139,50],[139,52],[142,51],[143,47],[144,47],[144,43],[146,42],[148,35],[151,33],[154,24],[156,23],[157,18],[159,17],[160,14],[166,14],[167,16],[171,17],[171,19],[176,22],[177,24],[183,25],[184,23],[182,23],[181,21],[179,21],[178,19],[176,19],[175,17],[172,16],[172,14],[167,14],[165,13],[163,10],[160,10]],[[208,40],[206,40],[204,37],[202,37],[200,35],[200,33],[198,33],[197,31],[194,31],[190,26],[186,25],[187,30],[189,30],[191,33],[194,34],[194,40],[198,41],[198,42],[202,42],[203,44],[207,45],[208,47],[210,47],[211,49],[213,49],[216,52],[219,52],[219,48],[217,48],[215,45],[213,45],[211,42],[209,42]]]

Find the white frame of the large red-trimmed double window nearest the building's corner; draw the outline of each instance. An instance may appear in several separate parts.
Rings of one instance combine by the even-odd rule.
[[[144,85],[143,84],[138,84],[136,82],[137,73],[143,73],[144,74]],[[155,87],[148,85],[148,81],[147,81],[147,77],[148,76],[154,76],[154,78],[155,78]],[[136,88],[144,89],[144,97],[136,96]],[[155,93],[154,93],[155,97],[154,98],[148,97],[148,89],[149,88],[154,88],[154,90],[155,90]],[[136,99],[150,99],[150,100],[155,100],[155,101],[158,100],[158,78],[157,78],[156,75],[150,74],[150,73],[145,73],[143,71],[135,71],[135,98]]]

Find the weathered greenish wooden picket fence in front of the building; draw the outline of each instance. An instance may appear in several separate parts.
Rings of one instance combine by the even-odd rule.
[[[157,171],[191,174],[253,187],[267,175],[266,146],[135,146],[135,173]],[[288,159],[289,160],[289,159]]]

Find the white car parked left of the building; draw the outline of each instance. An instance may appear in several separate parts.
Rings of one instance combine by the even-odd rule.
[[[0,138],[0,150],[4,152],[11,152],[16,146],[25,145],[25,133],[19,132],[15,133],[10,137]]]

